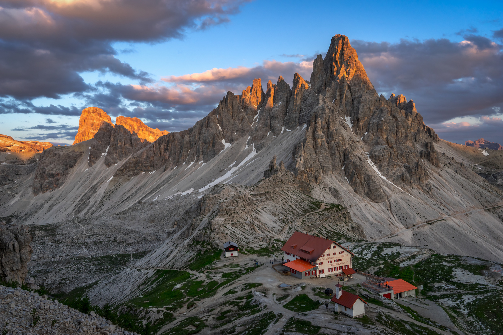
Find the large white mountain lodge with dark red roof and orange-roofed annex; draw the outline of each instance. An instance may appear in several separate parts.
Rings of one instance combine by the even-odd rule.
[[[297,278],[350,276],[354,254],[335,241],[295,232],[281,250],[285,266]]]

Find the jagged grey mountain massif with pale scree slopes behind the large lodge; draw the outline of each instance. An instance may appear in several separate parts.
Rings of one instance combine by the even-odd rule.
[[[503,257],[503,191],[476,173],[494,165],[439,139],[412,100],[378,95],[347,37],[334,36],[329,51],[313,62],[311,81],[297,73],[290,86],[280,76],[264,92],[254,79],[194,127],[152,143],[101,121],[93,138],[37,154],[16,183],[19,169],[6,160],[0,169],[13,182],[0,189],[0,216],[49,225],[60,241],[78,230],[89,253],[104,227],[116,232],[117,246],[108,243],[117,250],[148,252],[93,286],[100,303],[127,301],[152,269],[185,267],[189,246],[194,255],[229,239],[261,249],[295,230]],[[271,168],[274,156],[281,169]],[[318,214],[321,203],[331,209]],[[151,242],[136,242],[144,236]],[[61,274],[47,278],[58,290],[75,287],[60,284]]]

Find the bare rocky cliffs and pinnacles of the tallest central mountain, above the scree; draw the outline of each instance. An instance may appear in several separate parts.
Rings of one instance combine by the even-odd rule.
[[[438,136],[403,95],[379,96],[358,55],[344,35],[332,38],[325,59],[313,62],[311,81],[295,73],[292,88],[283,77],[276,84],[255,79],[241,95],[228,92],[194,127],[159,138],[134,154],[117,172],[137,172],[202,161],[227,144],[248,136],[247,145],[262,150],[281,134],[306,129],[285,166],[299,180],[319,184],[338,175],[356,193],[374,202],[386,199],[384,188],[429,190],[427,161],[438,166]]]

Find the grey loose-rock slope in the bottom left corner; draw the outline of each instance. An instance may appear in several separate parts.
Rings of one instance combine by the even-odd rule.
[[[95,312],[89,315],[81,313],[57,300],[48,299],[46,295],[39,296],[19,287],[0,286],[0,299],[0,331],[8,330],[7,335],[137,335],[112,324]],[[33,308],[37,311],[35,316],[40,316],[35,326],[32,325]],[[53,320],[56,321],[54,325]]]

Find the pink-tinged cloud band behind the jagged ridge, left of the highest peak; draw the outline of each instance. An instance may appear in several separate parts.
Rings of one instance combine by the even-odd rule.
[[[153,84],[98,82],[95,91],[78,96],[86,101],[86,105],[100,106],[111,116],[137,117],[152,128],[180,131],[204,118],[227,91],[240,94],[255,78],[262,79],[265,89],[268,80],[276,83],[280,75],[291,83],[295,72],[308,79],[311,71],[312,60],[265,60],[254,67],[214,68],[201,73],[164,77]]]

